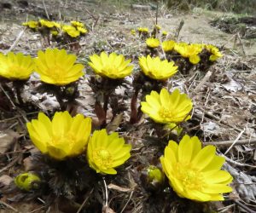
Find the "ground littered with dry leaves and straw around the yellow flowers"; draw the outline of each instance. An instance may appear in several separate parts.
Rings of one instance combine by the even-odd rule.
[[[155,21],[155,10],[131,9],[129,3],[119,3],[119,1],[46,0],[44,3],[52,20],[77,19],[84,22],[89,28],[89,34],[80,41],[81,48],[75,50],[79,61],[83,63],[88,61],[89,55],[105,50],[117,51],[127,58],[132,58],[133,63],[137,64],[137,58],[142,55],[145,44],[136,37],[132,37],[131,30],[137,29],[138,26],[147,26],[152,29]],[[15,52],[37,55],[38,49],[44,49],[40,35],[25,30],[21,23],[26,20],[37,20],[39,17],[45,18],[45,9],[43,1],[39,0],[0,1],[0,51],[6,53],[11,49]],[[212,204],[214,205],[213,209],[217,209],[217,212],[246,212],[247,207],[249,210],[256,210],[256,180],[254,177],[256,174],[256,42],[255,39],[240,39],[237,35],[221,32],[218,28],[212,27],[209,22],[221,15],[223,14],[203,9],[194,9],[187,14],[177,13],[175,10],[168,10],[166,7],[160,6],[158,24],[169,32],[169,37],[172,37],[181,20],[184,20],[178,37],[179,41],[212,43],[218,46],[224,54],[224,57],[212,67],[211,72],[193,72],[189,75],[180,73],[169,82],[169,86],[186,91],[193,99],[194,111],[188,124],[189,134],[198,135],[204,144],[217,146],[218,153],[226,158],[225,169],[229,170],[234,177],[232,185],[234,193],[230,194],[227,201]],[[61,48],[55,43],[52,46]],[[138,70],[138,66],[135,69]],[[86,83],[87,81],[84,80],[79,88],[81,95],[78,101],[82,103],[79,111],[96,118],[93,112],[91,90]],[[131,90],[129,87],[126,90],[119,89],[119,93],[125,91],[126,94],[129,94],[131,92],[129,89]],[[28,87],[27,91],[31,92],[32,88]],[[44,110],[51,110],[56,104],[56,101],[50,100],[43,103],[42,100],[45,97],[38,95],[28,97],[25,94],[24,98],[31,99],[34,105]],[[125,103],[128,105],[129,101],[125,100]],[[22,120],[24,115],[28,119],[33,116],[29,112],[20,114],[15,110],[10,113],[2,112],[0,130],[18,131],[20,140],[26,141],[25,121]],[[128,119],[126,112],[124,119]],[[143,135],[149,135],[149,133],[141,125],[131,128],[126,135],[127,140],[134,145],[134,156],[131,160],[133,165],[129,167],[130,170],[136,170],[138,165],[143,166],[145,161],[141,157],[143,154],[149,153],[148,156],[154,156],[154,152],[147,146],[142,151],[141,147],[145,146],[142,145]],[[29,149],[26,142],[20,146],[24,147],[24,145]],[[23,159],[26,158],[26,155],[17,157],[17,161],[13,163],[15,166],[12,166],[11,159],[6,160],[6,158],[4,154],[0,155],[0,168],[5,168],[6,164],[9,165],[6,170],[0,169],[0,180],[3,175],[13,177],[20,170],[24,170]],[[114,181],[119,183],[116,179]],[[140,187],[134,187],[139,185],[134,176],[133,178],[125,177],[121,182],[129,190],[127,193],[124,188],[118,188],[116,190],[118,193],[113,193],[117,197],[110,198],[113,199],[113,204],[110,206],[115,212],[162,212],[160,211],[160,200],[154,200],[147,194],[145,195]],[[1,181],[0,183],[2,184]],[[8,197],[8,199],[10,198]],[[114,204],[115,200],[116,204]],[[60,204],[65,203],[63,200],[60,202]],[[143,202],[147,204],[143,204]],[[154,208],[152,207],[154,204],[150,206],[150,202],[155,202]],[[176,200],[176,202],[180,201]],[[188,206],[191,204],[189,203]],[[150,210],[150,208],[152,209]],[[26,203],[9,202],[7,199],[4,199],[3,202],[0,201],[0,212],[45,212],[43,209],[44,200],[41,199],[36,202],[26,201]],[[68,211],[59,210],[58,206],[55,206],[49,208],[47,212]],[[104,212],[113,211],[109,209]],[[174,206],[170,212],[186,211],[178,211]],[[202,211],[200,209],[191,212]]]

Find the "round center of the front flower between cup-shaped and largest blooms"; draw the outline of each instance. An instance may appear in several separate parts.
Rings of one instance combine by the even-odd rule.
[[[108,150],[103,148],[98,148],[93,152],[93,158],[95,159],[96,164],[109,168],[113,164],[113,157]]]

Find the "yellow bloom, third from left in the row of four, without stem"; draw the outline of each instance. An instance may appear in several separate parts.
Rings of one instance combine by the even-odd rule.
[[[125,78],[132,72],[133,66],[131,60],[125,60],[124,55],[111,53],[109,56],[105,52],[99,55],[91,55],[91,62],[88,64],[93,68],[96,74],[108,78]]]

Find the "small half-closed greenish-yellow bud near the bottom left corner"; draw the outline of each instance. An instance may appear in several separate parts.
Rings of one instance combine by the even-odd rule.
[[[22,173],[19,176],[15,176],[15,185],[25,191],[38,189],[40,182],[40,177],[31,172]]]

